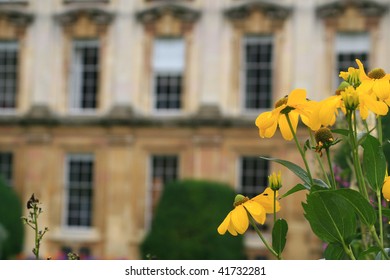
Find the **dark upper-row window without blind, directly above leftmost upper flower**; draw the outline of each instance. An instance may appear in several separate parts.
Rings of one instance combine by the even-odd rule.
[[[244,38],[243,86],[244,108],[270,108],[272,101],[271,36],[246,36]]]

